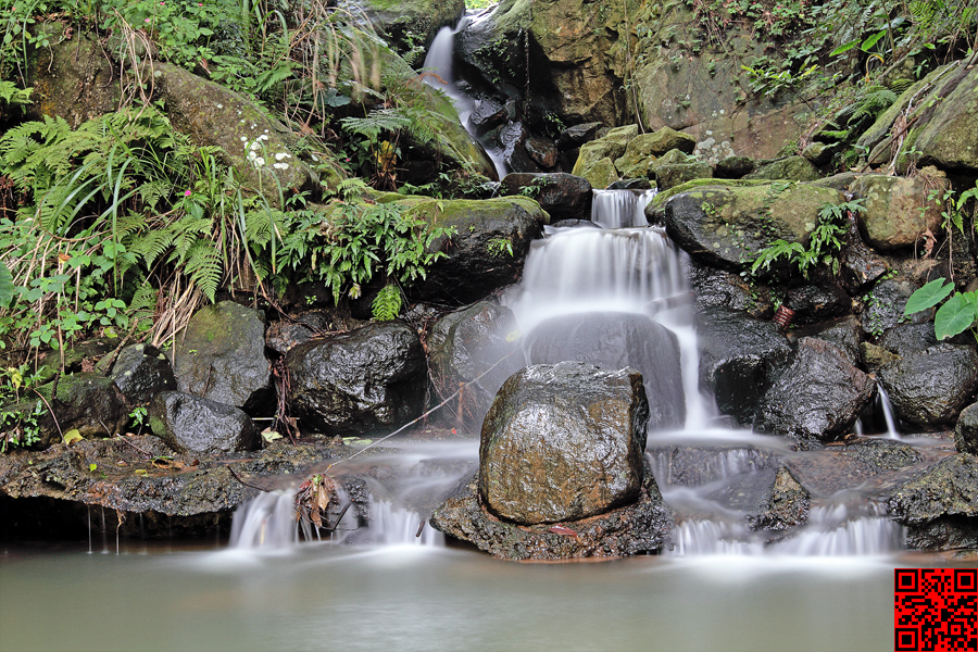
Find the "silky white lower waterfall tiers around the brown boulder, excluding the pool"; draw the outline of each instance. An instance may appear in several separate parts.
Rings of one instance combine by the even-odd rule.
[[[713,415],[709,401],[699,391],[699,352],[686,254],[661,228],[606,227],[644,221],[644,202],[651,195],[628,190],[598,192],[593,221],[605,225],[604,228],[549,228],[548,237],[534,243],[522,284],[504,297],[523,334],[527,363],[535,362],[530,349],[541,331],[553,329],[555,339],[567,339],[568,330],[564,328],[573,330],[587,319],[599,324],[599,330],[614,328],[617,321],[629,325],[654,322],[650,333],[662,333],[664,327],[672,334],[665,340],[660,337],[655,341],[667,344],[674,341],[669,346],[677,348],[679,356],[675,367],[657,366],[661,360],[654,351],[650,354],[644,335],[631,338],[641,341],[625,343],[626,348],[644,347],[635,354],[638,362],[628,358],[630,352],[624,358],[625,364],[638,367],[647,379],[665,375],[664,369],[678,369],[681,376],[685,425],[680,419],[676,424],[678,431],[656,430],[649,435],[650,466],[663,498],[678,515],[668,554],[853,555],[899,549],[902,529],[877,514],[858,496],[814,501],[806,522],[789,532],[752,530],[748,526],[748,512],[736,500],[729,500],[731,492],[736,496],[741,489],[762,491],[764,482],[769,487],[778,449],[785,444],[774,437],[707,429]],[[569,316],[569,321],[554,321],[561,316]],[[629,337],[615,335],[611,339],[624,341]],[[587,348],[589,342],[585,341],[584,346]],[[624,366],[619,362],[616,358],[609,364]],[[665,380],[677,385],[675,377]],[[649,387],[647,380],[647,390]],[[681,443],[677,446],[674,441]],[[438,450],[437,446],[408,448],[396,460],[380,457],[381,463],[402,469],[400,479],[394,487],[368,480],[372,498],[366,523],[359,523],[358,517],[347,513],[330,540],[387,546],[442,544],[442,535],[426,525],[424,510],[429,512],[432,501],[440,501],[440,497],[475,467],[477,442],[467,446],[464,451]],[[680,449],[705,453],[695,464],[673,469],[668,451]],[[378,463],[377,457],[371,460],[372,464]],[[454,463],[444,464],[446,460]],[[460,460],[464,461],[462,467],[456,464]],[[417,505],[426,506],[419,511]],[[306,532],[304,538],[315,537]],[[297,541],[293,493],[262,494],[235,515],[233,546],[268,548]]]

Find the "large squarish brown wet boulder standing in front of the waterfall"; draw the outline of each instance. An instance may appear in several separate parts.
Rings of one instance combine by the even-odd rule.
[[[638,498],[649,404],[642,376],[532,365],[500,389],[479,446],[479,496],[523,525],[578,521]]]

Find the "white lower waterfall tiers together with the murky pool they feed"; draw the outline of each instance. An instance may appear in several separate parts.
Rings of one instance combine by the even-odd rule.
[[[623,204],[643,199],[626,192],[595,202],[618,206],[614,217],[597,216],[618,228],[551,229],[510,304],[527,340],[554,317],[595,313],[675,336],[681,378],[666,380],[681,391],[685,418],[650,432],[647,453],[678,514],[665,554],[528,565],[446,547],[425,522],[472,473],[477,442],[392,440],[400,452],[364,455],[362,467],[347,469],[375,478],[366,482],[369,514],[350,510],[324,536],[300,538],[292,488],[240,507],[228,547],[180,551],[171,542],[168,554],[152,554],[161,550],[123,540],[116,556],[8,544],[0,647],[889,650],[892,568],[955,562],[902,552],[900,528],[860,490],[814,497],[807,525],[791,536],[747,526],[738,492],[769,480],[772,460],[790,451],[781,438],[714,425],[698,388],[682,253],[662,230],[622,217],[640,213]],[[654,355],[639,363],[665,364]],[[676,465],[694,449],[706,454]]]

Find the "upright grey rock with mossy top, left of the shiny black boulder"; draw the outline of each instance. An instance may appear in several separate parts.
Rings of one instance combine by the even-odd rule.
[[[173,351],[177,388],[239,408],[252,416],[274,412],[272,365],[265,359],[265,315],[222,301],[190,318]]]

